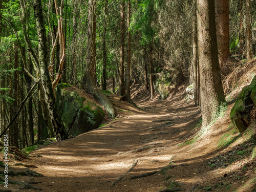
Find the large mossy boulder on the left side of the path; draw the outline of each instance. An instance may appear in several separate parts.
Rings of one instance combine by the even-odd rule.
[[[102,108],[82,97],[70,84],[56,86],[56,104],[67,132],[72,136],[96,129],[104,117]]]

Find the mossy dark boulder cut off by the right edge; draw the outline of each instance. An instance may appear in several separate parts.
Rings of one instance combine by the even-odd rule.
[[[231,122],[242,133],[250,124],[250,112],[256,106],[256,75],[249,86],[243,88],[230,112]]]

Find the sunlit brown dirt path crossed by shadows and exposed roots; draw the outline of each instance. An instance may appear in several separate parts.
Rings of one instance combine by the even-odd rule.
[[[35,178],[42,181],[38,187],[44,191],[159,191],[166,188],[165,179],[170,178],[190,191],[211,180],[207,163],[215,149],[207,144],[203,148],[177,145],[189,137],[200,118],[192,102],[179,97],[171,102],[140,101],[137,105],[142,110],[138,110],[118,97],[112,100],[118,111],[126,111],[123,117],[32,153],[42,156],[33,162],[39,168],[32,168],[45,176]],[[173,169],[129,180],[134,175],[160,170],[172,157],[177,165]],[[132,171],[111,187],[135,159],[138,163]]]

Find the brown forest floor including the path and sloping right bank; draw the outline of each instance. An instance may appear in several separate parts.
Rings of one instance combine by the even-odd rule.
[[[204,137],[194,140],[201,127],[201,112],[193,102],[186,101],[185,87],[182,89],[164,101],[138,100],[140,109],[110,95],[118,118],[31,154],[42,156],[26,162],[38,167],[31,170],[44,175],[34,178],[42,182],[35,186],[49,192],[143,192],[168,187],[172,188],[169,191],[256,191],[256,164],[250,159],[254,144],[239,140],[241,134],[230,128],[233,104]],[[221,147],[230,137],[233,143]],[[149,172],[155,174],[131,179]],[[121,180],[114,185],[118,178]],[[24,176],[12,179],[29,180]],[[19,191],[16,185],[9,188]]]

